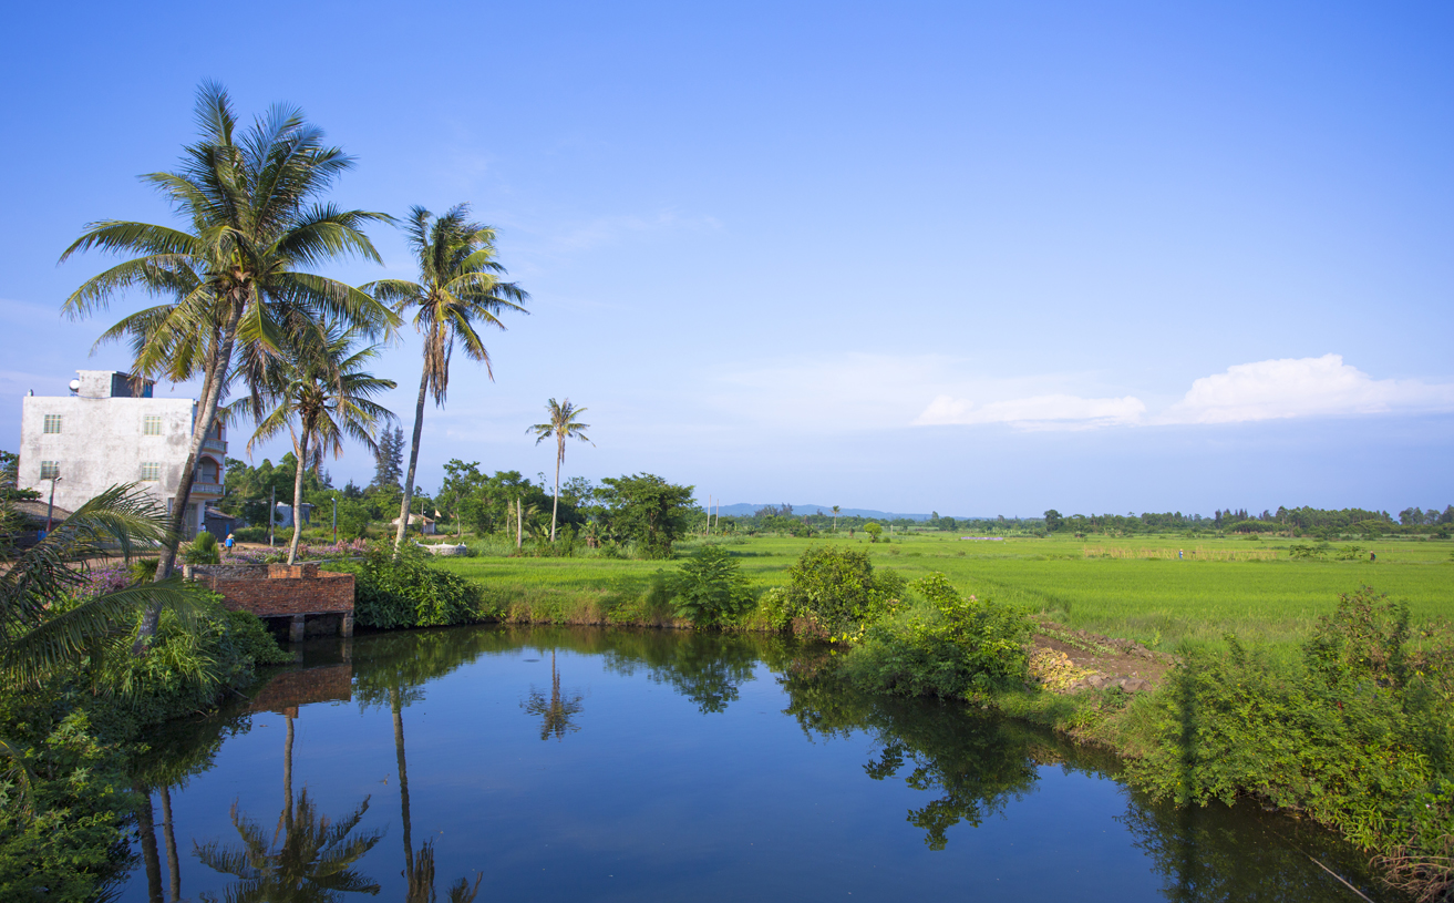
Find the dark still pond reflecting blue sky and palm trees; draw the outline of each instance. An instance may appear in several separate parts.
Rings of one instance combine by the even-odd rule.
[[[313,641],[246,710],[154,737],[119,896],[448,900],[483,874],[481,903],[1358,899],[1312,855],[1391,899],[1325,832],[1156,806],[1105,753],[823,665],[676,631]]]

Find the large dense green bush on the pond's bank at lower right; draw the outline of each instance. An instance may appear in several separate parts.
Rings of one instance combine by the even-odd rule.
[[[1405,606],[1365,587],[1341,598],[1298,660],[1227,644],[1170,673],[1133,779],[1182,804],[1250,795],[1306,811],[1454,887],[1450,861],[1438,865],[1454,836],[1447,628],[1410,631]]]

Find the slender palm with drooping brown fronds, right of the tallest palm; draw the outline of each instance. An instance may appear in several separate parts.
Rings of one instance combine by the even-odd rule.
[[[379,279],[362,286],[379,301],[393,304],[398,313],[413,307],[414,329],[425,337],[425,369],[414,406],[414,436],[409,446],[404,497],[398,506],[395,548],[403,544],[404,531],[409,529],[409,503],[414,494],[426,396],[433,391],[435,404],[443,407],[455,343],[471,359],[484,364],[486,374],[494,380],[490,352],[484,348],[477,324],[503,330],[505,324],[496,314],[502,310],[528,313],[523,302],[529,298],[521,286],[499,279],[505,268],[494,259],[494,230],[470,222],[468,204],[452,206],[438,218],[422,206],[410,208],[403,228],[419,259],[419,282]]]

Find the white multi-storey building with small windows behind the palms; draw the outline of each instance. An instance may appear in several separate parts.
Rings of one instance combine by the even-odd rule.
[[[135,483],[172,510],[192,442],[196,403],[154,398],[151,381],[109,369],[80,369],[68,397],[29,396],[20,413],[17,484],[77,509],[102,490]],[[183,532],[205,528],[205,507],[222,497],[227,439],[221,426],[202,441]]]

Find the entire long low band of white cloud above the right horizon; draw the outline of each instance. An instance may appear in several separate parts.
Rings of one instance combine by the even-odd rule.
[[[1374,380],[1345,364],[1342,355],[1329,353],[1322,358],[1282,358],[1229,366],[1226,372],[1195,380],[1179,401],[1150,417],[1146,416],[1146,404],[1134,396],[1083,398],[1045,394],[976,401],[939,394],[912,423],[1095,429],[1441,412],[1454,412],[1454,384]]]

